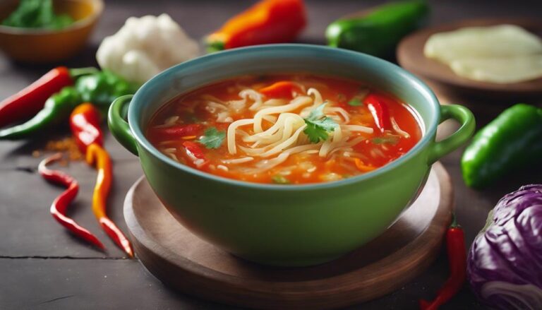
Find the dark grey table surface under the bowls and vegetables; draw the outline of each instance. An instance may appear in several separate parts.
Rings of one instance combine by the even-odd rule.
[[[95,65],[94,55],[103,37],[112,35],[129,16],[169,13],[191,37],[200,38],[218,28],[224,20],[253,1],[107,1],[100,24],[89,46],[64,64],[71,67]],[[363,10],[381,1],[306,0],[308,28],[301,42],[323,43],[325,26],[332,20]],[[430,1],[430,24],[463,18],[524,16],[540,19],[540,1]],[[0,98],[25,87],[49,66],[14,64],[0,56]],[[441,98],[443,102],[447,98]],[[456,99],[457,100],[457,99]],[[494,117],[502,105],[481,100],[459,100],[473,107],[478,125]],[[510,102],[513,103],[513,102]],[[440,128],[443,135],[449,124]],[[67,135],[59,129],[56,136]],[[83,162],[65,168],[80,181],[80,194],[70,214],[81,225],[97,233],[107,253],[95,251],[66,233],[49,215],[49,204],[60,190],[44,182],[36,172],[40,158],[32,151],[44,147],[45,138],[34,141],[0,142],[0,309],[233,309],[188,297],[159,282],[137,259],[126,259],[98,227],[90,210],[95,171]],[[143,174],[138,159],[122,148],[109,134],[106,148],[114,160],[115,181],[109,198],[109,214],[126,232],[122,206],[126,191]],[[457,151],[442,159],[452,176],[457,217],[471,244],[483,226],[488,211],[498,199],[522,184],[540,182],[541,170],[521,172],[485,191],[464,186]],[[417,309],[419,297],[431,298],[447,278],[447,259],[441,251],[425,273],[397,292],[350,309]],[[242,298],[240,296],[239,298]],[[467,286],[442,309],[481,309]]]

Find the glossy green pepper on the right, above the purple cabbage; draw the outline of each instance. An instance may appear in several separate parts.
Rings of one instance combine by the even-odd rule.
[[[461,160],[465,184],[474,188],[542,158],[542,109],[517,104],[476,133]]]

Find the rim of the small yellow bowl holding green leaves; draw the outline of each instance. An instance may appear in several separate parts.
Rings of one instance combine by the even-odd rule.
[[[11,27],[6,25],[0,25],[0,33],[6,35],[54,35],[58,33],[70,32],[80,28],[85,28],[88,25],[97,20],[102,12],[104,11],[104,0],[61,0],[61,1],[70,1],[70,2],[86,2],[92,5],[93,11],[85,18],[76,20],[75,23],[68,25],[66,28],[61,29],[43,29],[43,28],[20,28],[20,27]]]

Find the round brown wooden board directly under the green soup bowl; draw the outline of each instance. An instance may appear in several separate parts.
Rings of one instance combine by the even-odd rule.
[[[420,196],[384,234],[307,268],[260,266],[198,239],[168,213],[145,177],[128,192],[124,217],[143,265],[181,292],[257,309],[332,309],[381,297],[421,273],[438,254],[452,200],[450,176],[436,163]]]

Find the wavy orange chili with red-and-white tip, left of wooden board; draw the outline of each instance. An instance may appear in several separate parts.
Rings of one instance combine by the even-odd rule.
[[[96,165],[98,176],[92,195],[92,211],[98,222],[111,239],[123,249],[128,256],[133,257],[133,250],[128,238],[124,236],[119,227],[107,217],[106,201],[113,178],[112,163],[107,152],[96,143],[88,145],[86,160],[89,165]]]

